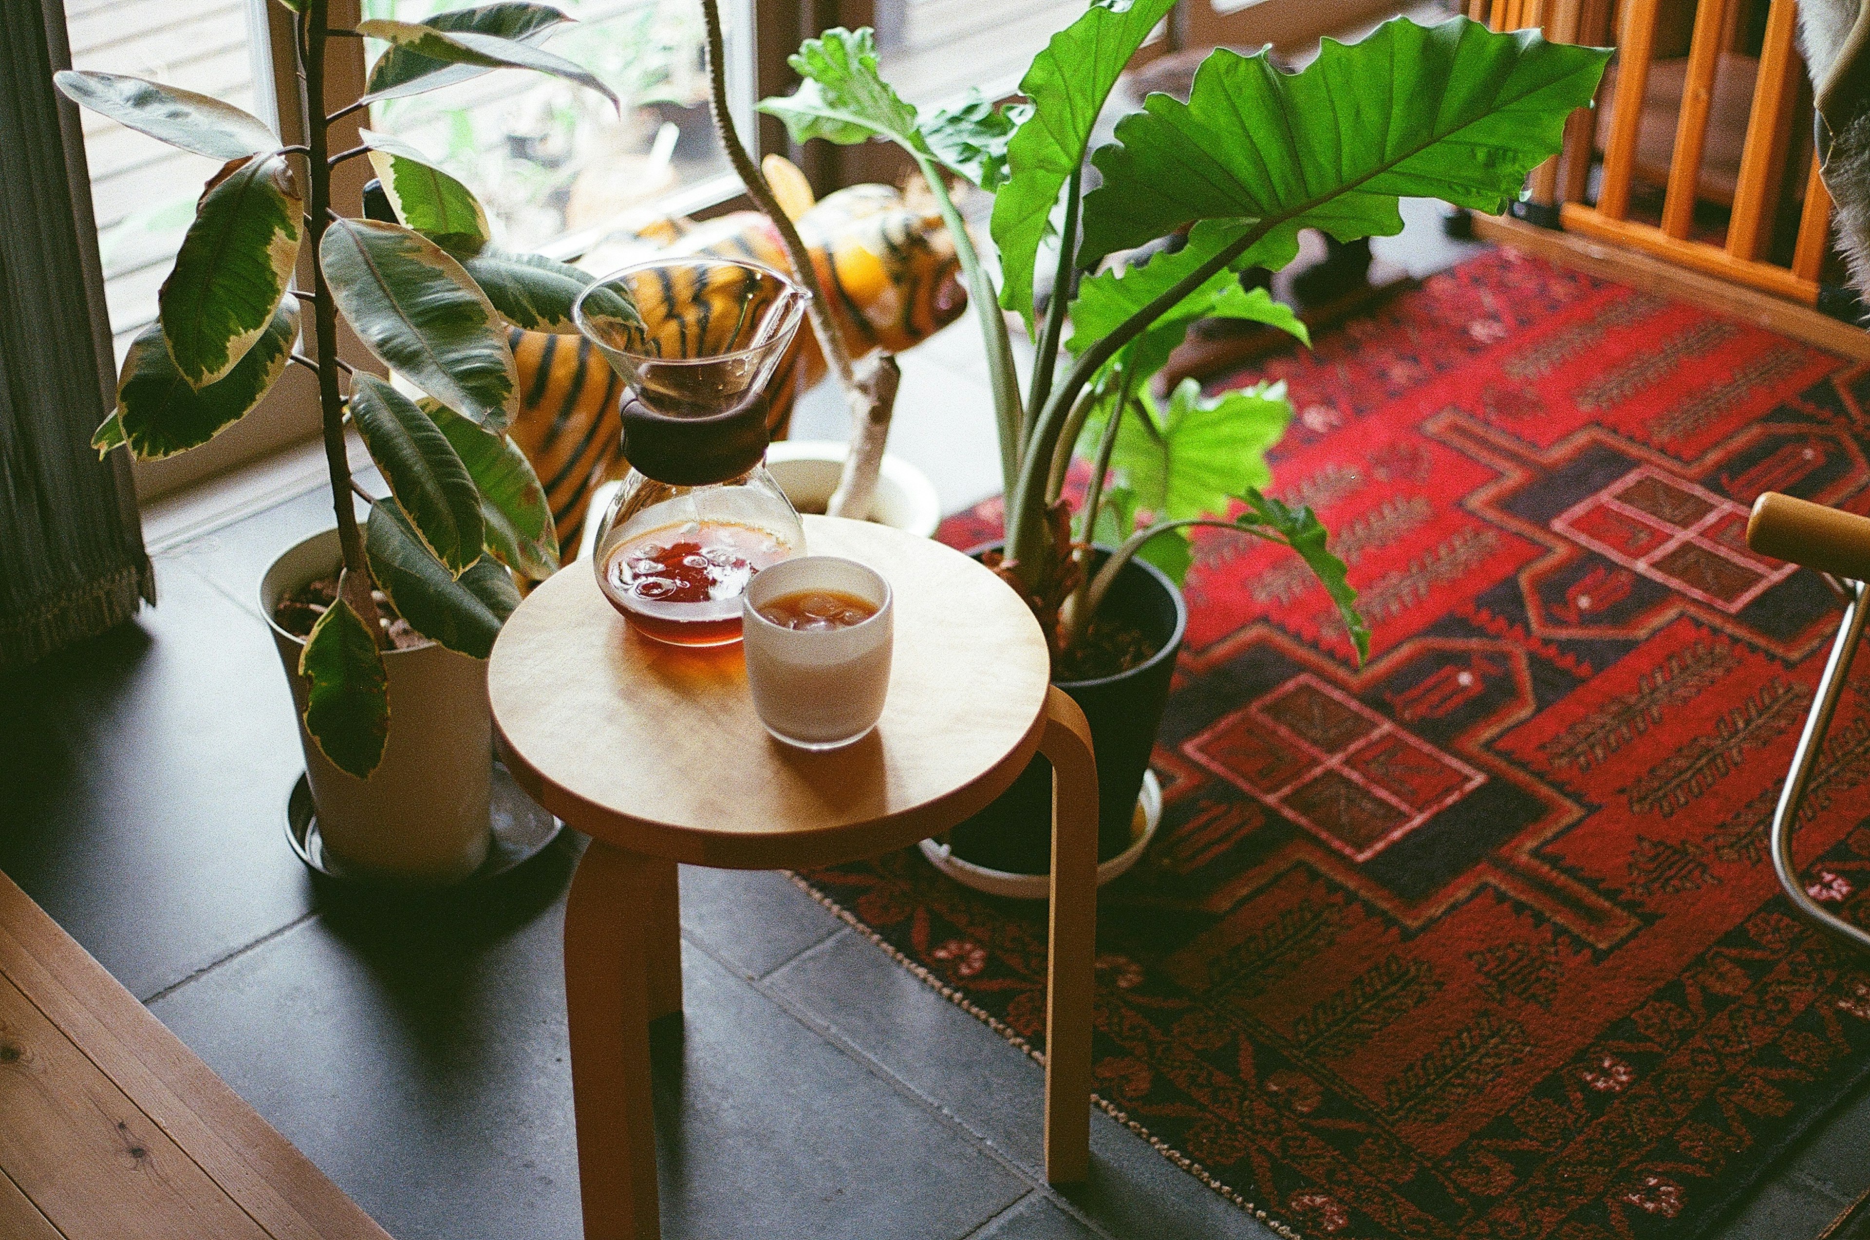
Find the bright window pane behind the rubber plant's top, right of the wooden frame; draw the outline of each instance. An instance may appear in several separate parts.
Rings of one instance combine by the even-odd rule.
[[[365,0],[368,17],[396,21],[447,7],[458,6]],[[372,129],[415,144],[460,178],[511,249],[574,252],[611,228],[647,223],[684,191],[737,193],[709,118],[701,7],[694,0],[559,0],[557,7],[576,24],[561,26],[546,49],[615,90],[621,116],[574,82],[499,69],[376,103]],[[754,135],[748,9],[748,0],[722,4],[729,97],[744,138]],[[374,62],[381,45],[367,47]]]

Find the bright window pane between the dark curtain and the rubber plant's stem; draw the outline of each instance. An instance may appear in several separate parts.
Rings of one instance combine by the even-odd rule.
[[[65,0],[71,64],[133,73],[226,99],[271,122],[266,54],[256,64],[252,0]],[[264,99],[260,95],[266,95]],[[131,339],[155,322],[155,290],[176,260],[194,200],[215,161],[178,151],[90,108],[84,157],[105,267],[105,301],[118,361]]]

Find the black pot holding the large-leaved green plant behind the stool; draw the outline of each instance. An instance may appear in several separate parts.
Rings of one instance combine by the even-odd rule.
[[[971,554],[980,557],[999,546],[978,546]],[[1101,565],[1107,555],[1107,548],[1098,548],[1096,563]],[[1131,843],[1137,793],[1169,703],[1169,681],[1187,628],[1187,606],[1182,591],[1159,569],[1131,559],[1105,595],[1103,613],[1133,623],[1158,651],[1129,671],[1096,681],[1053,681],[1077,701],[1090,722],[1090,741],[1098,752],[1100,862]],[[1034,757],[997,800],[948,832],[948,847],[961,860],[987,870],[1049,873],[1051,763]]]

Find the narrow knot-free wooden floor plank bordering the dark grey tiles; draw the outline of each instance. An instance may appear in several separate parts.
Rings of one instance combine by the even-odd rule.
[[[389,1240],[4,873],[0,976],[30,993],[45,1017],[275,1240]],[[0,1130],[9,1122],[0,1118]]]

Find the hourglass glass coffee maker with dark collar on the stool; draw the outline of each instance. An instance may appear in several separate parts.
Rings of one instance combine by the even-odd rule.
[[[812,294],[750,262],[675,258],[597,281],[572,320],[628,385],[630,473],[602,516],[604,597],[647,638],[741,640],[741,595],[806,548],[767,473],[767,389]]]

